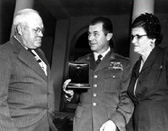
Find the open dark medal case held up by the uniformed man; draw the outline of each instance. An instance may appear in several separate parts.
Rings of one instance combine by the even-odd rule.
[[[71,82],[68,89],[88,89],[89,85],[89,64],[88,63],[68,63],[68,78]]]

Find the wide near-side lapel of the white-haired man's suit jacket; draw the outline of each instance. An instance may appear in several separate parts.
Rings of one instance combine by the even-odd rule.
[[[12,38],[11,42],[13,46],[13,51],[18,55],[18,58],[24,64],[33,69],[42,78],[47,80],[47,76],[35,60],[34,56],[31,53],[29,53],[15,38]]]

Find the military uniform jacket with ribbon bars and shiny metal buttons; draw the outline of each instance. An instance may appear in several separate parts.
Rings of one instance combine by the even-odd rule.
[[[80,94],[73,131],[99,131],[107,120],[125,131],[133,112],[133,103],[127,95],[129,60],[111,51],[97,67],[93,53],[77,61],[90,64],[90,89]]]

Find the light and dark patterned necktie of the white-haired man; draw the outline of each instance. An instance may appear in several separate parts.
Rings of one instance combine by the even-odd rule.
[[[34,56],[40,67],[43,69],[44,73],[47,75],[47,65],[41,60],[34,50],[28,49],[28,51]]]

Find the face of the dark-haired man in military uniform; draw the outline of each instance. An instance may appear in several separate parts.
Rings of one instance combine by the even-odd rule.
[[[102,23],[90,25],[88,31],[89,46],[93,52],[99,54],[108,49],[109,40],[112,38],[112,33],[105,35],[102,25]]]

